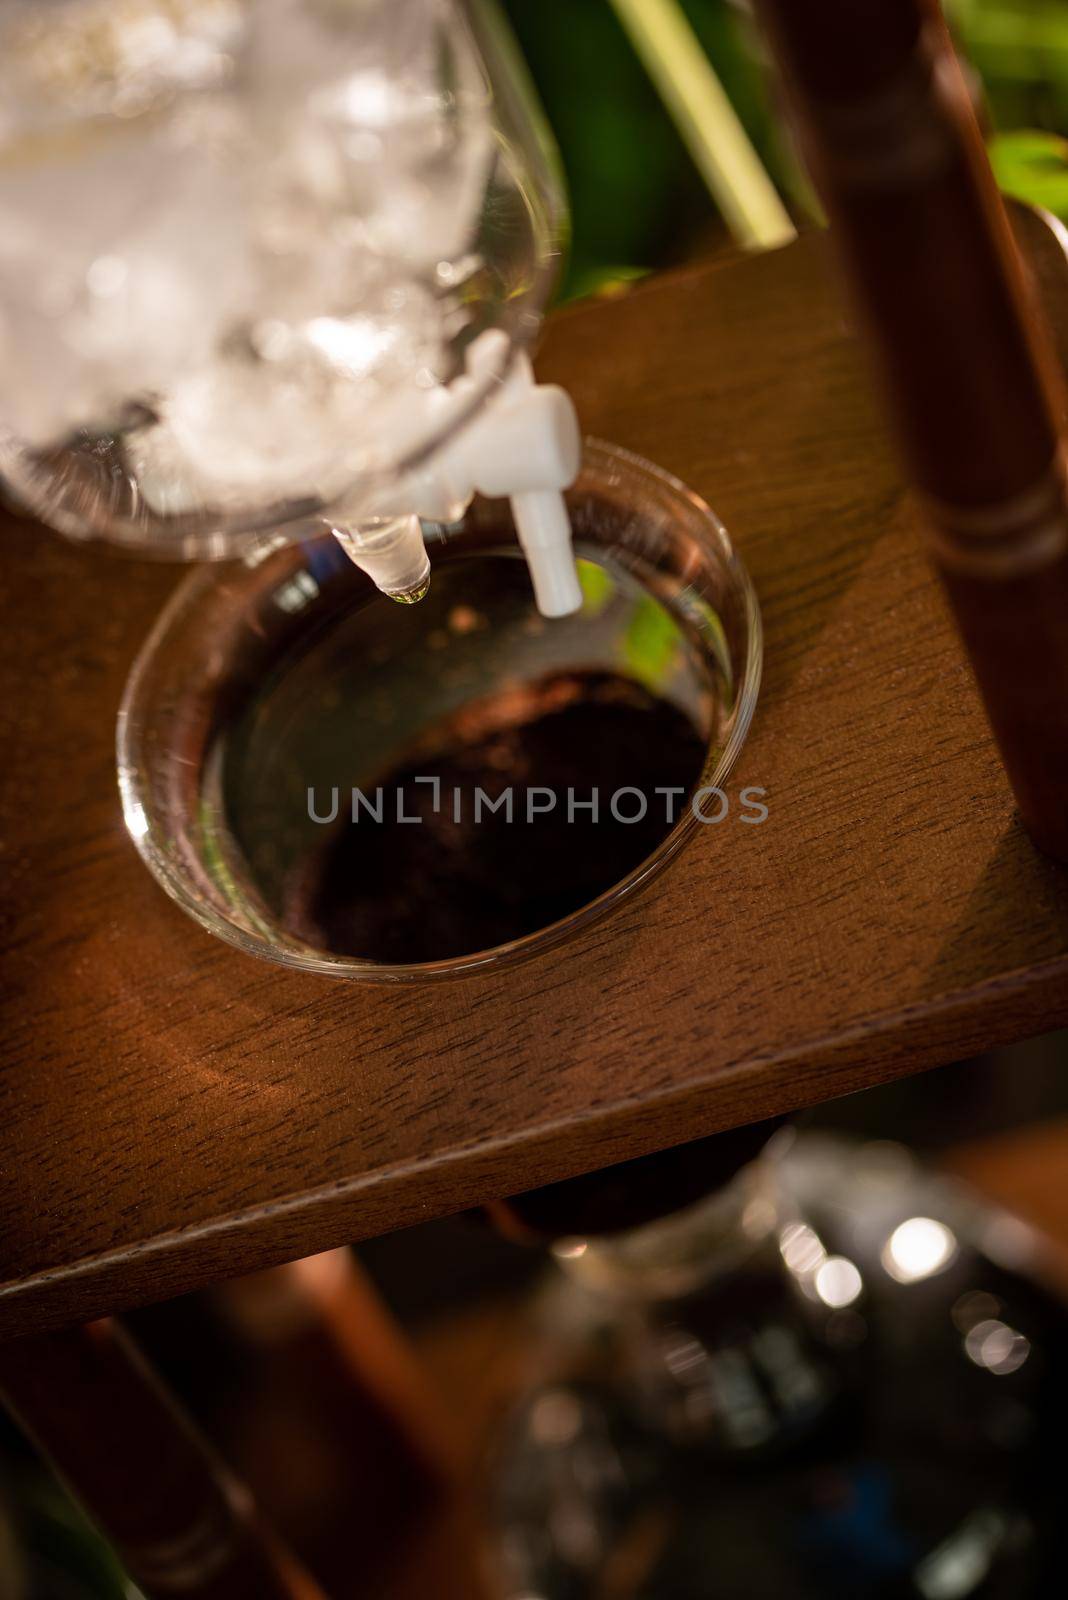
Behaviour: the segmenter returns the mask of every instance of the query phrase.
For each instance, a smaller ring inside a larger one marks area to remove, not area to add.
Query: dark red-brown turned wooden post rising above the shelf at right
[[[1020,811],[1068,861],[1068,466],[934,0],[758,0]]]

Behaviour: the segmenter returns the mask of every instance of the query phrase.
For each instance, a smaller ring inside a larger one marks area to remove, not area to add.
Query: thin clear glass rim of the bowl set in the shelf
[[[739,693],[731,722],[731,733],[723,749],[718,752],[711,768],[702,773],[700,784],[694,792],[699,794],[703,789],[718,789],[737,763],[742,746],[748,736],[759,696],[764,637],[756,590],[745,565],[734,550],[734,544],[731,542],[724,525],[700,494],[691,490],[673,474],[667,472],[664,467],[646,461],[635,451],[625,450],[620,445],[611,445],[600,438],[584,438],[584,467],[590,464],[609,462],[622,462],[632,472],[638,472],[644,478],[652,477],[659,488],[662,491],[665,490],[670,498],[686,501],[691,514],[695,512],[702,522],[700,536],[708,542],[710,549],[713,549],[721,566],[729,571],[735,594],[742,600],[745,613],[745,659],[739,672]],[[544,950],[553,949],[587,928],[590,923],[609,915],[624,901],[636,896],[678,856],[699,827],[710,826],[702,819],[700,810],[694,806],[691,794],[681,816],[673,824],[671,830],[665,834],[656,850],[651,851],[644,861],[640,861],[635,867],[632,867],[630,872],[627,872],[611,888],[603,890],[593,899],[579,906],[566,917],[547,923],[544,928],[536,928],[532,933],[521,934],[520,938],[510,939],[504,944],[494,944],[486,950],[472,950],[467,955],[440,957],[433,962],[373,962],[365,957],[336,955],[328,950],[313,950],[312,947],[294,946],[293,949],[286,949],[273,942],[270,938],[232,922],[217,907],[205,904],[193,891],[189,878],[177,870],[166,853],[158,848],[155,838],[152,837],[152,829],[147,826],[147,810],[142,798],[142,789],[137,781],[137,762],[133,749],[133,728],[139,722],[139,701],[157,648],[168,635],[171,626],[184,614],[190,597],[205,582],[217,581],[222,571],[224,568],[219,565],[208,563],[190,573],[189,578],[177,586],[158,614],[149,637],[137,651],[130,677],[126,678],[115,725],[115,757],[118,766],[118,792],[126,832],[130,834],[137,854],[149,867],[152,877],[195,922],[243,954],[286,966],[291,971],[313,973],[323,978],[341,978],[352,982],[377,982],[387,986],[435,982],[443,979],[448,981],[486,970],[512,966],[540,955]]]

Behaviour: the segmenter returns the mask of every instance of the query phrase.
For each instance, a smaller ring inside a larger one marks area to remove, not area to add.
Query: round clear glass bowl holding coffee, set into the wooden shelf
[[[737,760],[759,611],[713,512],[638,456],[588,440],[568,506],[585,600],[552,622],[504,501],[427,528],[419,606],[328,536],[182,582],[118,718],[126,826],[168,894],[249,954],[398,982],[532,955],[648,883]],[[609,816],[609,789],[630,814],[668,778],[686,798],[662,816]],[[476,782],[518,786],[513,821],[468,826]],[[553,782],[537,832],[524,805]]]

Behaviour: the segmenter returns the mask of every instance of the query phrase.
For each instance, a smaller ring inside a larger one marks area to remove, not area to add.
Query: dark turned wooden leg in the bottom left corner
[[[149,1600],[323,1600],[117,1323],[5,1344],[0,1395]]]

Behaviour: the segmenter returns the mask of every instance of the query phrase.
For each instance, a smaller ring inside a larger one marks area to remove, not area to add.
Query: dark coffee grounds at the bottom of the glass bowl
[[[640,866],[681,814],[705,754],[684,712],[612,672],[502,690],[438,726],[374,790],[363,787],[382,821],[358,806],[353,822],[341,795],[321,846],[289,877],[285,920],[320,947],[390,963],[518,939]],[[438,789],[417,778],[436,778]],[[592,787],[596,818],[582,803]],[[657,794],[665,789],[683,794]],[[486,797],[478,819],[476,790]]]

